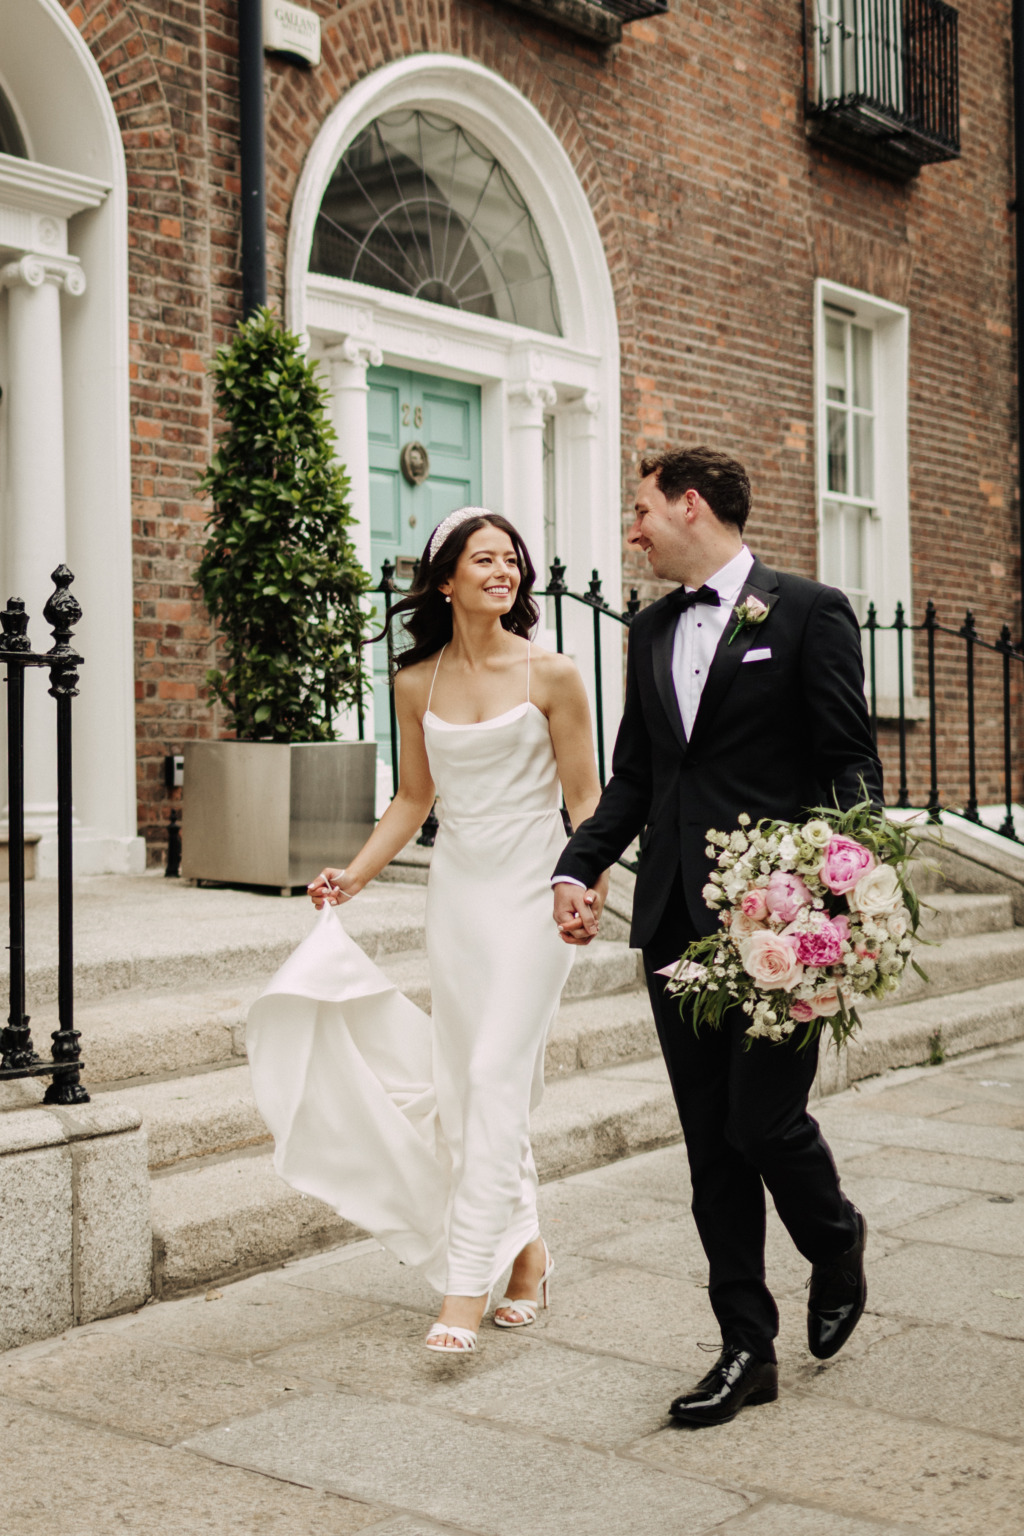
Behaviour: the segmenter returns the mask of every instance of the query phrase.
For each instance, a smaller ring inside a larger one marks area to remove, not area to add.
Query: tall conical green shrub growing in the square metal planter
[[[272,310],[244,321],[210,367],[227,422],[200,490],[212,498],[197,568],[224,637],[209,671],[239,740],[330,742],[365,687],[348,479],[327,392]]]

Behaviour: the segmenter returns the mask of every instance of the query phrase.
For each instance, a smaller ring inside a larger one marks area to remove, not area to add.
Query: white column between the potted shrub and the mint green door
[[[381,573],[373,570],[370,551],[370,421],[367,415],[370,387],[367,369],[379,369],[382,355],[376,343],[347,336],[329,347],[324,358],[330,378],[332,422],[338,433],[338,459],[348,475],[348,499],[352,515],[356,519],[352,528],[352,542],[359,564],[370,574],[370,584],[376,587]],[[379,599],[376,604],[373,599],[367,601],[367,611],[373,607],[379,607]],[[364,697],[362,722],[365,739],[372,740],[375,727],[370,690]],[[348,710],[338,720],[338,731],[344,740],[356,740],[359,725],[355,710]]]

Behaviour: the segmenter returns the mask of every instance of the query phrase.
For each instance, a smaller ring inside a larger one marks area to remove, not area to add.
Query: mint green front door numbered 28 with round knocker
[[[431,528],[456,507],[479,505],[481,387],[405,369],[368,369],[367,384],[372,574],[376,585],[384,561],[391,561],[407,585],[411,562],[422,554]],[[421,484],[411,484],[402,473],[402,450],[408,444],[424,447],[430,459]],[[381,756],[390,762],[382,642],[373,648],[373,714]]]

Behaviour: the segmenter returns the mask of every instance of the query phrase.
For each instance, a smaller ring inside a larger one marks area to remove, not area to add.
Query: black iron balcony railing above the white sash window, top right
[[[895,175],[960,155],[958,14],[944,0],[804,0],[808,132]]]

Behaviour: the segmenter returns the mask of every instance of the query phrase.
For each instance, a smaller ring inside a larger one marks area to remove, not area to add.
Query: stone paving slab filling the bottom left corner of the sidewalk
[[[352,1536],[385,1511],[0,1399],[11,1536]]]

